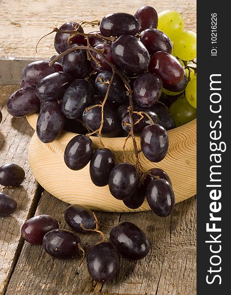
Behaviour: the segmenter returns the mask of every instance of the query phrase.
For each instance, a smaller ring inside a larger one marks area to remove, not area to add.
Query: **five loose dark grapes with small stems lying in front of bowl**
[[[98,232],[102,240],[93,244],[87,254],[87,268],[92,279],[101,283],[111,281],[120,267],[120,256],[138,260],[144,258],[150,243],[140,228],[131,222],[120,222],[110,231],[110,241],[99,231],[99,221],[94,212],[81,205],[70,205],[65,220],[76,233]],[[50,215],[37,215],[28,219],[21,229],[22,237],[31,244],[42,244],[51,256],[70,259],[85,256],[80,237],[70,230],[60,229],[58,221]]]

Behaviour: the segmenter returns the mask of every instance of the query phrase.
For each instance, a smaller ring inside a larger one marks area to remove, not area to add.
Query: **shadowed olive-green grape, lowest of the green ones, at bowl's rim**
[[[173,116],[176,127],[187,124],[197,118],[197,109],[192,107],[185,97],[178,98],[173,102],[170,106],[170,112]]]

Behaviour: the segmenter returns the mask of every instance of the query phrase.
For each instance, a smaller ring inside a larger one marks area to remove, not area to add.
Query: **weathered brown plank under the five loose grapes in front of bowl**
[[[61,228],[67,204],[44,192],[35,214],[50,214]],[[167,218],[152,211],[135,213],[96,212],[106,237],[119,221],[137,224],[151,241],[151,250],[140,261],[121,259],[120,271],[107,284],[91,280],[86,259],[59,260],[39,245],[25,242],[6,295],[195,295],[196,294],[196,199],[176,205]],[[106,226],[106,227],[105,227]],[[110,228],[108,228],[110,227]],[[79,234],[83,247],[99,241],[98,234]]]

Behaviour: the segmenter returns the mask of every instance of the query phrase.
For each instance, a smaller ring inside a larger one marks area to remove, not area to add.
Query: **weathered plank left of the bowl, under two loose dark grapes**
[[[36,198],[40,194],[27,160],[27,147],[33,129],[25,119],[12,118],[5,110],[4,103],[18,86],[0,87],[0,166],[13,162],[22,166],[26,179],[19,189],[5,190],[18,203],[17,211],[9,217],[0,218],[0,294],[3,294],[7,281],[17,262],[22,248],[20,228],[34,213]]]

